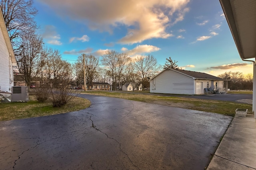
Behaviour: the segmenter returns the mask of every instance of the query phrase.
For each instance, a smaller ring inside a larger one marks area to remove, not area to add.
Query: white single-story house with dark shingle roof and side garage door
[[[206,93],[204,88],[224,91],[224,81],[203,72],[166,68],[150,80],[150,93],[194,95]],[[227,90],[227,84],[225,87]]]

